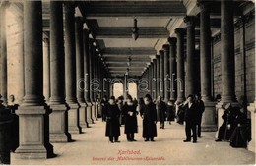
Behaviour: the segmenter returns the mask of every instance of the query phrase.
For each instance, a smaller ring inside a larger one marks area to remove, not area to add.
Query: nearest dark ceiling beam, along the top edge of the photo
[[[87,17],[170,17],[185,16],[186,8],[179,0],[172,1],[90,1],[79,2],[81,13]]]

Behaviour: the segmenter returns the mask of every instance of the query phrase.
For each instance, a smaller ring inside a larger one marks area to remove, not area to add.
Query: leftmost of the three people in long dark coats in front
[[[120,111],[115,103],[115,97],[112,96],[106,106],[106,129],[105,136],[109,137],[110,142],[120,142],[120,124],[119,124]],[[114,141],[113,141],[114,139]]]

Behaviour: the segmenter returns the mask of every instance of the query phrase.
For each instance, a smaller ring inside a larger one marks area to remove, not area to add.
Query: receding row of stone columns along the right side
[[[152,65],[148,67],[142,77],[153,75],[157,81],[156,93],[152,93],[154,98],[160,95],[165,101],[185,100],[189,94],[201,93],[205,102],[205,113],[202,120],[204,131],[215,131],[215,106],[211,96],[211,25],[210,7],[207,2],[198,3],[200,12],[200,73],[196,72],[196,52],[195,52],[195,16],[186,16],[184,22],[186,29],[176,28],[176,38],[169,37],[168,43],[162,46],[159,55]],[[234,90],[234,28],[232,1],[222,1],[221,3],[221,42],[222,42],[222,101],[217,105],[221,109],[227,103],[235,102]],[[186,36],[186,43],[185,43]],[[186,44],[186,50],[184,49]],[[186,57],[186,58],[184,58]],[[227,65],[228,64],[228,65]],[[153,70],[151,70],[153,69]],[[200,84],[197,84],[196,77],[200,75]],[[171,82],[167,82],[167,81]],[[160,81],[160,82],[158,82]],[[154,83],[150,82],[149,83]],[[150,85],[151,86],[151,85]],[[201,87],[201,89],[198,89]],[[223,115],[219,112],[219,115]],[[222,122],[219,122],[220,124]]]

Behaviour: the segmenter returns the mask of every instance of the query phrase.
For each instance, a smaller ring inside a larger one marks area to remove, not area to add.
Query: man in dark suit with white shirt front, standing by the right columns
[[[186,131],[186,139],[184,142],[191,141],[191,130],[193,131],[193,143],[197,142],[197,134],[196,134],[196,124],[197,124],[197,107],[194,103],[193,95],[189,95],[187,97],[187,102],[184,105],[185,109],[185,131]]]

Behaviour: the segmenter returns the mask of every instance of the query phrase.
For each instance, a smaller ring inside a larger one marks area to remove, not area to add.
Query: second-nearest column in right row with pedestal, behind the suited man
[[[200,12],[200,69],[201,95],[205,103],[202,117],[202,131],[216,131],[215,124],[216,103],[211,98],[211,28],[210,9],[205,2],[198,3]]]

